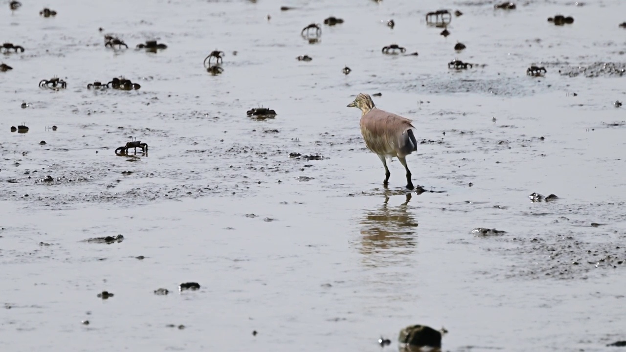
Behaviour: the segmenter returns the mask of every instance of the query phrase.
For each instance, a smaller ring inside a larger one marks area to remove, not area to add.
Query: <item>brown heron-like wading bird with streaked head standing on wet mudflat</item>
[[[418,150],[411,120],[376,108],[372,98],[363,93],[357,95],[347,107],[361,109],[361,134],[367,148],[381,158],[385,167],[383,184],[386,186],[391,176],[387,158],[397,157],[406,169],[406,188],[414,189],[411,171],[406,166],[406,156]]]

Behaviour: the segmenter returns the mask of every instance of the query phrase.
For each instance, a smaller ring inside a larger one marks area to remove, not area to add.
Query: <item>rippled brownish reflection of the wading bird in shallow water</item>
[[[361,220],[361,254],[372,256],[375,263],[380,259],[397,254],[413,252],[415,229],[418,226],[413,214],[408,212],[411,193],[406,194],[406,202],[398,207],[389,207],[389,195],[385,195],[382,207],[367,212]],[[399,258],[397,258],[399,259]]]

